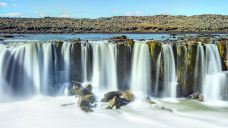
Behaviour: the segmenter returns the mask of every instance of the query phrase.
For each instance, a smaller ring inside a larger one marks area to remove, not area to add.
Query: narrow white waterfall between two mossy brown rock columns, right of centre
[[[176,67],[172,46],[169,44],[162,45],[162,53],[164,59],[164,97],[177,97],[177,80]]]

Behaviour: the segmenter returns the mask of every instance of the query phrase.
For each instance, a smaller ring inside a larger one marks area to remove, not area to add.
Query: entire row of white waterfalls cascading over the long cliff
[[[152,91],[150,89],[154,87],[155,96],[176,98],[176,70],[178,68],[176,69],[175,60],[178,58],[174,57],[176,51],[173,51],[172,44],[161,45],[162,51],[156,52],[158,55],[155,60],[151,58],[151,50],[145,41],[136,41],[130,46],[133,49],[131,49],[132,52],[127,52],[128,59],[121,55],[125,54],[124,47],[129,47],[129,45],[110,43],[107,40],[82,43],[0,44],[0,61],[2,62],[0,63],[0,95],[67,95],[71,80],[78,80],[91,83],[95,91],[114,91],[119,89],[118,86],[126,86],[121,89],[130,88],[136,96],[145,96],[150,94]],[[191,48],[193,51],[197,50],[196,58],[185,60],[190,62],[186,62],[185,69],[188,68],[186,66],[190,66],[189,69],[195,69],[188,71],[192,74],[191,76],[189,73],[191,77],[181,79],[180,90],[185,87],[182,84],[187,80],[192,80],[195,82],[192,83],[194,87],[186,84],[187,88],[183,90],[194,88],[194,91],[203,93],[208,101],[226,100],[228,98],[227,73],[222,72],[217,46],[198,44],[197,49],[195,45]],[[185,53],[178,53],[181,59],[187,58],[181,57],[182,55],[186,56],[187,52],[191,52],[187,50],[187,47],[180,50],[182,51]],[[125,64],[125,67],[120,68],[122,64]],[[178,64],[181,65],[182,60]],[[153,70],[151,67],[157,69]],[[117,73],[126,70],[129,72],[131,70],[131,74],[121,74],[124,80],[120,80]],[[180,73],[186,73],[184,70],[180,71]],[[123,85],[122,81],[124,81]]]

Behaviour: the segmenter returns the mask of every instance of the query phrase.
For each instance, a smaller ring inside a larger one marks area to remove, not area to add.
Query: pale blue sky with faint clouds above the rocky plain
[[[228,0],[0,0],[0,17],[228,15]]]

